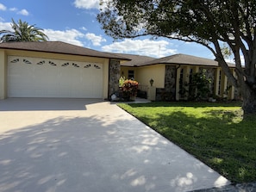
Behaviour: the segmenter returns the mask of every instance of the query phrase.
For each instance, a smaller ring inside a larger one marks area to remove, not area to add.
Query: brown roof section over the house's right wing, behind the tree
[[[218,62],[214,59],[205,59],[187,54],[174,54],[160,59],[145,56],[124,56],[132,60],[122,63],[122,66],[145,66],[157,64],[218,66]],[[234,64],[228,63],[228,66],[234,67]]]

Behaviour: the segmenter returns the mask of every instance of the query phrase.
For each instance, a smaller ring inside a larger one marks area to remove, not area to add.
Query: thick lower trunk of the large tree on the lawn
[[[256,115],[256,85],[250,85],[245,82],[241,88],[243,97],[242,109],[244,117]]]

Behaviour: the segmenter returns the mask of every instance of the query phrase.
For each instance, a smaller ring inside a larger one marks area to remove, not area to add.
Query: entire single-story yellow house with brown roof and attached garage
[[[228,65],[234,72],[234,65]],[[188,97],[181,94],[183,84],[198,71],[206,71],[211,79],[212,95],[240,98],[239,91],[229,87],[228,78],[213,59],[184,54],[155,59],[103,53],[60,41],[0,43],[0,99],[107,99],[119,89],[122,76],[137,80],[140,91],[147,92],[151,100],[181,100]]]

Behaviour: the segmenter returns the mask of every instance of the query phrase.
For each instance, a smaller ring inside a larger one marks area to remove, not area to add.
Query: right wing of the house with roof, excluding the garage
[[[181,100],[187,99],[187,94],[181,94],[184,83],[190,82],[192,73],[205,71],[211,79],[209,90],[212,96],[240,99],[238,90],[228,83],[228,77],[222,68],[213,59],[203,59],[185,54],[175,54],[161,59],[150,57],[116,54],[131,61],[121,63],[121,76],[133,77],[140,84],[141,90],[152,90],[150,79],[156,91],[156,100]],[[234,65],[228,64],[234,72]]]

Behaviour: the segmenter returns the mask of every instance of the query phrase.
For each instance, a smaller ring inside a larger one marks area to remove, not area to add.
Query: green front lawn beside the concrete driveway
[[[119,106],[233,183],[256,181],[256,118],[241,103],[151,102]]]

